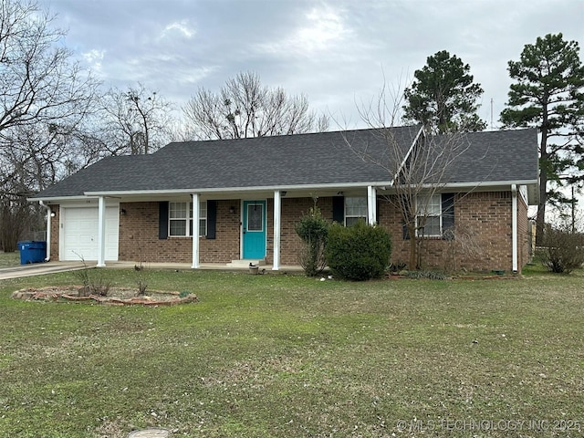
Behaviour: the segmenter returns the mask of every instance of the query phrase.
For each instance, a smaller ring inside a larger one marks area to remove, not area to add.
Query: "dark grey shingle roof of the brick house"
[[[407,150],[419,127],[392,128]],[[537,179],[535,130],[468,134],[471,146],[454,182]],[[350,143],[349,148],[347,143]],[[360,152],[381,157],[378,130],[349,130],[227,141],[174,142],[151,155],[110,157],[38,193],[36,199],[86,192],[177,191],[380,183],[391,176]]]

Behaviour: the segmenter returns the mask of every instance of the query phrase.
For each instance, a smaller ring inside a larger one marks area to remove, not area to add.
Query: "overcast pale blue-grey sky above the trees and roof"
[[[341,128],[362,128],[356,106],[384,81],[403,89],[426,58],[448,50],[485,90],[495,128],[511,83],[507,62],[537,36],[584,46],[584,0],[40,0],[66,44],[108,87],[140,81],[180,107],[251,70],[304,93]],[[584,54],[580,53],[580,58]],[[331,128],[336,128],[334,122]]]

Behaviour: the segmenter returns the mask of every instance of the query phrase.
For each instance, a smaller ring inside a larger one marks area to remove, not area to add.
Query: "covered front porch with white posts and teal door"
[[[375,191],[369,192],[369,205],[365,201],[362,215],[367,217],[372,211],[369,220],[373,223],[377,205]],[[365,200],[367,194],[367,188],[362,187],[347,193],[327,193],[318,197],[318,207],[329,221],[343,223],[343,195]],[[300,269],[297,260],[302,243],[295,225],[314,206],[313,198],[308,193],[292,191],[240,196],[217,199],[217,194],[183,195],[169,202],[122,200],[119,260],[180,263],[203,269],[247,269],[249,263],[274,271]],[[177,219],[178,214],[173,212],[178,211],[179,204],[183,215]],[[179,227],[175,225],[179,223],[181,231],[177,233]],[[193,235],[199,238],[193,239]],[[249,250],[252,245],[254,251]],[[104,261],[107,266],[112,263],[115,262]]]

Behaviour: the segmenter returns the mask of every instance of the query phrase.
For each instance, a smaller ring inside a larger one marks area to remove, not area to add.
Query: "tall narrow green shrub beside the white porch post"
[[[296,224],[296,233],[304,245],[298,254],[298,263],[304,268],[307,276],[318,276],[327,262],[325,260],[325,244],[328,235],[328,222],[320,214],[315,205],[308,214],[300,218]]]

